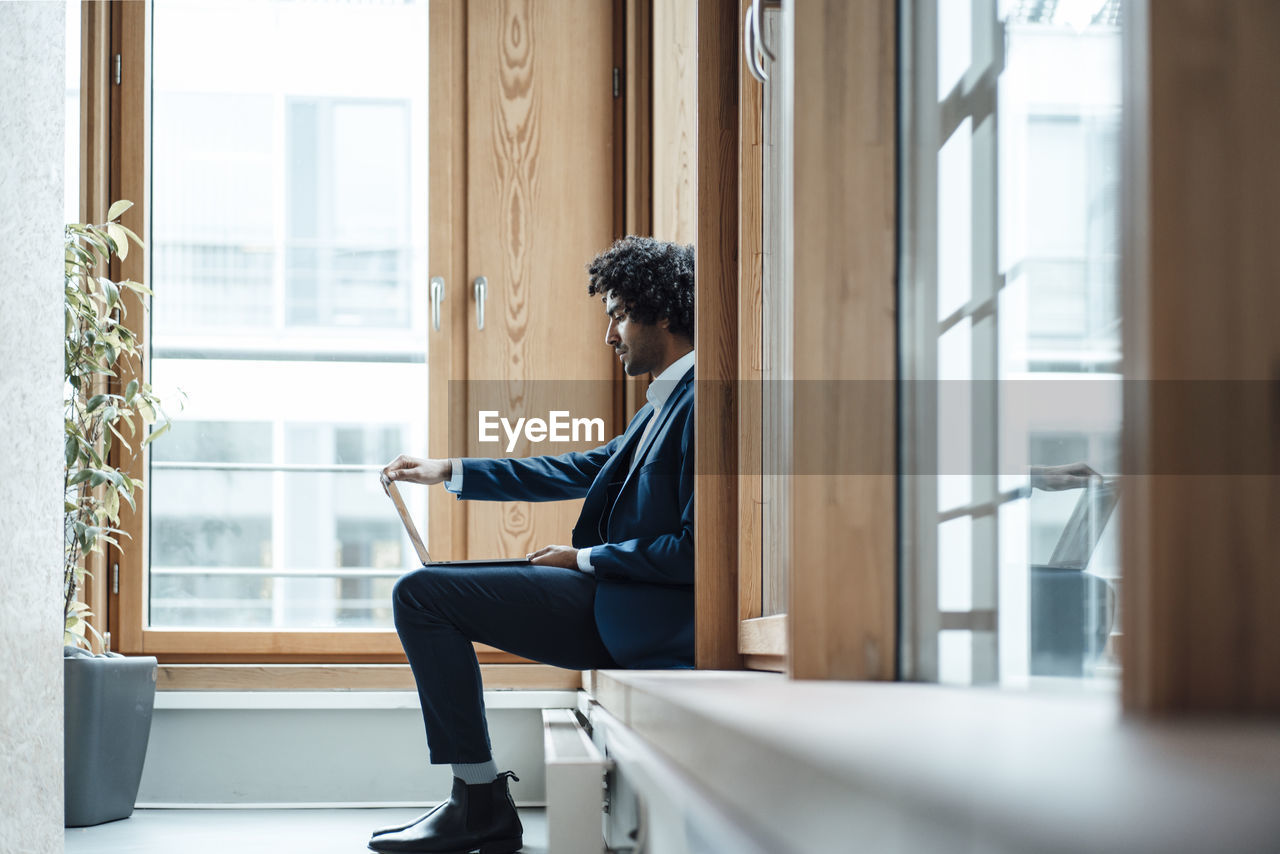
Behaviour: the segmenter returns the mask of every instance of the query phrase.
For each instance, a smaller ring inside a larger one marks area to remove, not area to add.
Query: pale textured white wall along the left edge
[[[0,851],[63,850],[65,6],[0,3]]]

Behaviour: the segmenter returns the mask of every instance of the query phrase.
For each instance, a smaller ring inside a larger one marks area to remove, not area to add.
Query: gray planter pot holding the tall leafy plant
[[[67,827],[128,818],[156,699],[156,659],[63,658]]]

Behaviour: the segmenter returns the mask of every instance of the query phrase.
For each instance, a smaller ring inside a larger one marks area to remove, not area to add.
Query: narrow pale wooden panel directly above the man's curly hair
[[[696,237],[698,6],[653,0],[653,236],[678,243]]]

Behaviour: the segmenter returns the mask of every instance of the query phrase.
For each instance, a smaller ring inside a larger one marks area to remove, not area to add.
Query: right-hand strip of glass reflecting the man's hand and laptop
[[[1021,551],[1027,572],[1027,670],[1006,662],[1006,681],[1115,670],[1119,567],[1114,551],[1101,572],[1098,558],[1119,528],[1117,23],[1116,4],[1101,1],[1006,19],[1000,255],[1018,296],[1000,319],[1016,353],[1000,379],[1002,406],[1021,416],[1002,417],[1001,442],[1032,472],[1025,510],[1001,525],[1001,553]],[[1034,474],[1062,469],[1098,476]]]

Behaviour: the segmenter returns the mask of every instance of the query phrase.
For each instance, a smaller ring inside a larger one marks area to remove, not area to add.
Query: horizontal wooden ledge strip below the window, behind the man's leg
[[[490,691],[576,691],[582,675],[545,665],[481,665]],[[160,691],[412,691],[408,665],[161,665]]]

